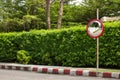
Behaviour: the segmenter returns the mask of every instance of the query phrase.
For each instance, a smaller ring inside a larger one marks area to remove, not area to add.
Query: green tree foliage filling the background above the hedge
[[[0,32],[47,29],[46,0],[0,0]],[[56,28],[60,1],[50,4],[51,28]],[[80,5],[65,0],[62,26],[84,24],[96,18],[96,9],[103,16],[120,16],[119,0],[82,0]]]

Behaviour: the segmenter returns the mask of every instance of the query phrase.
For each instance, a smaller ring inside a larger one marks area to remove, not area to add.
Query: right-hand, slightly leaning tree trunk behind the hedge
[[[57,28],[58,29],[61,28],[63,7],[64,7],[64,0],[60,0],[60,9],[59,9],[59,12],[58,12],[58,22],[57,22]]]

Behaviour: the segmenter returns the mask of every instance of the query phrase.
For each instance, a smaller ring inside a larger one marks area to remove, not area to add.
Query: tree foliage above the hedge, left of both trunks
[[[43,0],[0,0],[0,32],[28,31],[45,27]],[[44,17],[44,19],[43,19]]]

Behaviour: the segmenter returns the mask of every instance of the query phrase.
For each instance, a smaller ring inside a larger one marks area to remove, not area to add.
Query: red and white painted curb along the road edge
[[[120,79],[120,73],[117,72],[94,72],[89,70],[70,69],[70,68],[55,68],[44,66],[30,66],[30,65],[15,65],[15,64],[0,64],[0,69],[7,70],[22,70],[32,71],[38,73],[51,73],[51,74],[65,74],[72,76],[92,76],[104,78],[117,78]]]

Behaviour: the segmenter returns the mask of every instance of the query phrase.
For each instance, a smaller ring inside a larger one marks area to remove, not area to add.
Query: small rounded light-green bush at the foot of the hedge
[[[31,59],[28,52],[25,50],[19,50],[17,52],[17,61],[21,64],[28,64]]]

